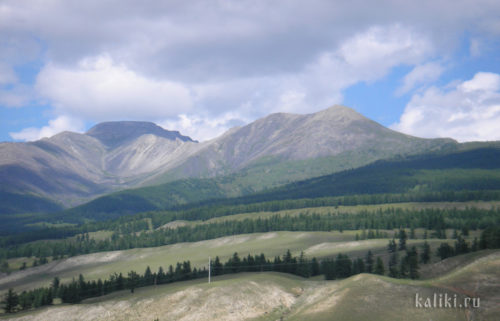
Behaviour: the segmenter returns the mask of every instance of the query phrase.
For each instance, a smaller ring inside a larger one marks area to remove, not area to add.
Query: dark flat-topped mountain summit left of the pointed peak
[[[184,142],[194,142],[190,137],[183,136],[178,131],[169,131],[154,123],[144,121],[103,122],[95,125],[86,133],[86,135],[100,140],[108,147],[115,147],[123,142],[147,134],[171,140],[180,139]]]

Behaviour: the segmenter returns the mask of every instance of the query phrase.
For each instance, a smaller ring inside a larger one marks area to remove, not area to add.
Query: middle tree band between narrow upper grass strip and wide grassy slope
[[[156,247],[179,242],[196,242],[223,236],[266,233],[272,231],[344,231],[373,230],[378,233],[374,237],[386,237],[378,230],[397,228],[434,229],[434,236],[445,237],[445,229],[485,229],[500,225],[500,209],[421,209],[409,210],[401,208],[360,211],[357,213],[328,212],[314,213],[314,209],[305,210],[299,215],[275,214],[265,218],[245,218],[181,226],[175,229],[142,230],[121,227],[115,230],[110,238],[95,240],[88,233],[71,240],[37,241],[27,244],[0,248],[0,261],[13,257],[32,257],[40,260],[46,257],[58,259],[64,256],[75,256],[101,251],[126,250],[132,248]],[[139,224],[138,224],[139,225]],[[140,226],[146,228],[148,222]],[[362,237],[363,238],[363,237]],[[373,238],[373,237],[369,237]]]

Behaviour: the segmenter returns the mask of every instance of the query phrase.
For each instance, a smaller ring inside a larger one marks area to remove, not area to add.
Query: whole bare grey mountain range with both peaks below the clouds
[[[0,143],[0,194],[68,207],[127,188],[233,175],[229,195],[239,196],[458,145],[390,130],[344,106],[271,114],[201,143],[149,122],[105,122],[84,134]]]

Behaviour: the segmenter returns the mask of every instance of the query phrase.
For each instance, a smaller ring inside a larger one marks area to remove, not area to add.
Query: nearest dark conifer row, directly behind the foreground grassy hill
[[[435,254],[444,260],[481,249],[500,248],[499,236],[499,226],[486,228],[481,233],[480,240],[475,239],[472,244],[465,241],[462,235],[457,235],[454,246],[443,242]],[[303,252],[296,257],[288,250],[282,257],[276,256],[272,260],[266,258],[263,253],[240,257],[235,252],[226,262],[221,262],[217,256],[211,261],[209,268],[203,267],[202,269],[192,268],[189,261],[183,261],[175,266],[170,265],[168,268],[159,267],[158,271],[154,272],[148,266],[143,274],[133,270],[126,275],[114,273],[105,280],[86,281],[85,277],[80,274],[77,279],[62,283],[58,277],[55,277],[50,287],[21,293],[9,289],[4,297],[5,311],[13,313],[18,310],[52,305],[54,299],[60,299],[63,303],[78,303],[88,298],[126,289],[133,293],[140,287],[207,278],[209,271],[213,277],[240,272],[281,272],[304,278],[323,275],[326,280],[347,278],[359,273],[387,274],[394,278],[418,279],[420,277],[419,265],[427,264],[432,253],[427,242],[417,249],[415,246],[407,247],[407,239],[406,231],[400,229],[395,238],[389,241],[385,255],[389,256],[387,267],[382,257],[375,257],[371,251],[368,251],[364,257],[351,258],[339,253],[335,257],[318,260],[315,257],[311,259],[305,257]]]

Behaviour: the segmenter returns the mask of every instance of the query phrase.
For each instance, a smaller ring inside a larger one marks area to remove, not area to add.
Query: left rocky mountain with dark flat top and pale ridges
[[[102,123],[29,143],[0,144],[1,189],[67,205],[133,186],[168,164],[191,138],[146,122]]]

